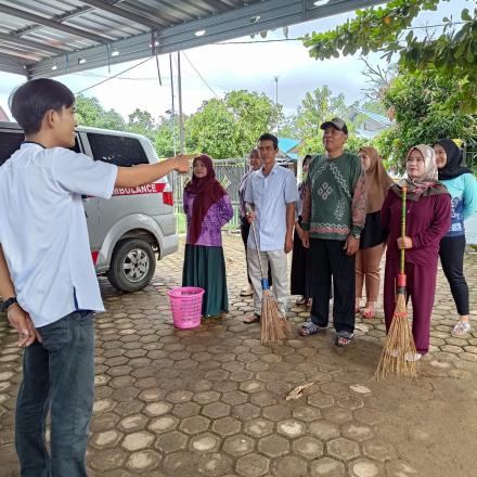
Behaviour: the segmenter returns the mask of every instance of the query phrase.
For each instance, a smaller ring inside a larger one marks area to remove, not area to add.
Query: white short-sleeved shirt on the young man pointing
[[[0,167],[0,244],[20,306],[36,327],[104,311],[81,195],[109,198],[117,167],[24,143]]]

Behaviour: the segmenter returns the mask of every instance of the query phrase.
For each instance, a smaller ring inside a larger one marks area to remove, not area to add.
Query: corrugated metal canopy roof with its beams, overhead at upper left
[[[378,3],[384,1],[0,0],[0,70],[54,77]]]

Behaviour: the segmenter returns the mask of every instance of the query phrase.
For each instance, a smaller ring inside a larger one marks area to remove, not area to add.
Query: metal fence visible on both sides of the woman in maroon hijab
[[[233,218],[225,225],[225,229],[238,229],[240,227],[240,202],[238,202],[238,185],[242,176],[247,170],[247,158],[237,159],[215,159],[214,169],[216,177],[223,185],[229,194],[233,206]],[[180,176],[173,172],[169,176],[169,182],[173,190],[173,211],[178,219],[178,232],[185,232],[185,215],[182,208],[182,194],[184,185],[188,182],[188,176]]]

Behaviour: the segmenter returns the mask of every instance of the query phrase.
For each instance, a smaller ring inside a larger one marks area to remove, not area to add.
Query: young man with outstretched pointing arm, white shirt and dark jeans
[[[81,195],[109,198],[115,186],[189,171],[185,156],[121,168],[75,145],[75,98],[51,79],[14,91],[25,132],[0,168],[0,295],[25,347],[15,416],[22,476],[85,477],[94,390],[93,312],[104,311]],[[51,455],[44,426],[51,410]]]

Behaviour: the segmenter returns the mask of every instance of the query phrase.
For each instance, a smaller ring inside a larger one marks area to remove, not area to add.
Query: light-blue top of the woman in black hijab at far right
[[[451,228],[446,236],[465,234],[464,220],[477,210],[477,181],[472,173],[441,180],[452,197]]]

